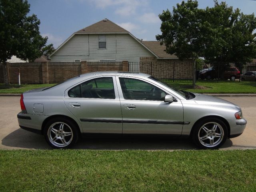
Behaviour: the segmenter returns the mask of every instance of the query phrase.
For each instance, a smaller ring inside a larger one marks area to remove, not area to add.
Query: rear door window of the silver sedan
[[[112,77],[96,78],[83,82],[68,91],[74,98],[114,99],[115,91]]]

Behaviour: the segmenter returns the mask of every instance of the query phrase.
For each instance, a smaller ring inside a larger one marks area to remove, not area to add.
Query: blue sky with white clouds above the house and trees
[[[40,32],[47,44],[57,48],[74,32],[104,18],[122,26],[137,38],[155,40],[160,34],[158,14],[182,0],[28,0],[30,14],[40,19]],[[220,0],[219,0],[220,2]],[[256,0],[226,0],[245,14],[256,10]],[[213,0],[198,0],[199,8],[214,6]]]

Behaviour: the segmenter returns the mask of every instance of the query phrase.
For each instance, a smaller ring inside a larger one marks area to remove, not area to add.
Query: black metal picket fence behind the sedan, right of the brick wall
[[[130,72],[172,82],[192,81],[193,62],[129,62]],[[196,62],[197,81],[255,81],[256,62]]]

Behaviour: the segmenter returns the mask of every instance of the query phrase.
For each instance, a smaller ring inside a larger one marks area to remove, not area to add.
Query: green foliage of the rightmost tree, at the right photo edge
[[[204,58],[210,62],[250,62],[256,58],[256,18],[240,13],[226,2],[207,7],[204,24]]]

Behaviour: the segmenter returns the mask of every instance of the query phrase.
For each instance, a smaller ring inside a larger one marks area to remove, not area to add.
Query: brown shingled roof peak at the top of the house
[[[76,33],[128,33],[128,31],[106,18]]]

